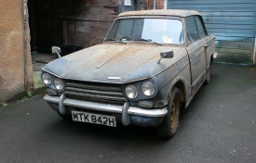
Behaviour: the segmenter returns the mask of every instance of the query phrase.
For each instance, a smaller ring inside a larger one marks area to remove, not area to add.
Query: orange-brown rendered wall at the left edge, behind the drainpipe
[[[0,104],[24,93],[24,32],[23,3],[17,0],[0,1]],[[33,84],[32,63],[27,34],[28,87]]]

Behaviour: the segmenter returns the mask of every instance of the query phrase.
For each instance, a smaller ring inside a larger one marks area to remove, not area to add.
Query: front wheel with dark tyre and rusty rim
[[[156,128],[160,137],[171,138],[176,133],[179,126],[180,107],[180,92],[174,87],[168,101],[168,114]]]

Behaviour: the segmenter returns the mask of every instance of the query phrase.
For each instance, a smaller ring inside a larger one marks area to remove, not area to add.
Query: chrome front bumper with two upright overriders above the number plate
[[[50,103],[59,104],[61,114],[66,113],[65,106],[87,108],[102,112],[120,113],[122,114],[122,123],[127,126],[129,124],[129,115],[141,116],[147,118],[162,118],[168,113],[167,107],[157,109],[144,109],[141,107],[130,107],[128,102],[124,106],[114,104],[104,104],[99,102],[90,102],[77,99],[66,98],[65,94],[60,96],[45,95],[44,99]]]

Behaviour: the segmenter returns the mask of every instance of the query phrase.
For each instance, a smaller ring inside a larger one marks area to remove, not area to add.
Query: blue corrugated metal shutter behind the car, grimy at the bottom
[[[256,0],[168,0],[168,9],[195,9],[216,37],[218,62],[252,65]]]

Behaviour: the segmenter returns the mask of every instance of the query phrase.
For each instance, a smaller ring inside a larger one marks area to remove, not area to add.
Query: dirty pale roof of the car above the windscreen
[[[192,15],[199,15],[199,12],[195,10],[184,9],[155,9],[155,10],[140,10],[140,11],[128,11],[119,14],[117,17],[127,16],[173,16],[173,17],[188,17]]]

